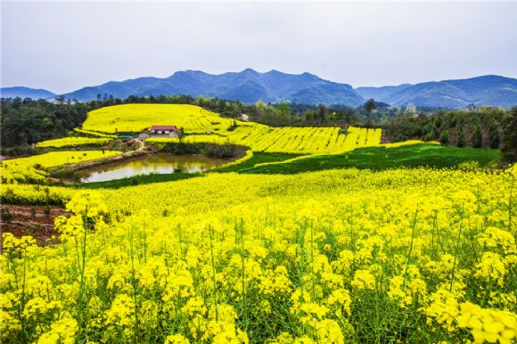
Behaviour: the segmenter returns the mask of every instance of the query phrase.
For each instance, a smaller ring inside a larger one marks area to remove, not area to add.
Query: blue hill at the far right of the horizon
[[[496,75],[415,85],[358,87],[356,91],[365,98],[398,106],[410,102],[420,107],[447,109],[464,109],[470,104],[505,108],[517,105],[517,79]]]

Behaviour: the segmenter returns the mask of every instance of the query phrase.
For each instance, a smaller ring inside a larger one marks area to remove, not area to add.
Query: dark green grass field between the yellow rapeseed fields
[[[358,148],[344,154],[308,156],[305,159],[254,167],[250,167],[253,161],[248,160],[242,165],[233,166],[232,170],[242,173],[293,174],[333,168],[373,170],[403,167],[455,168],[466,161],[477,161],[480,166],[486,166],[498,157],[499,151],[497,150],[457,148],[422,143],[397,148]],[[263,160],[260,162],[274,161],[267,161],[267,157],[260,157],[260,159]],[[255,162],[254,164],[258,163]]]

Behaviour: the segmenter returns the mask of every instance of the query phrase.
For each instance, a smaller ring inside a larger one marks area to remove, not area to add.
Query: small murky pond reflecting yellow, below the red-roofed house
[[[81,171],[80,174],[83,183],[106,182],[130,176],[203,172],[230,161],[202,155],[158,154],[89,168]]]

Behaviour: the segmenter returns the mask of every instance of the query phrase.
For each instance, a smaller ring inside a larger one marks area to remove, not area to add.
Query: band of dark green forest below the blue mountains
[[[80,127],[88,111],[122,103],[187,103],[201,106],[224,117],[238,119],[247,114],[252,121],[274,127],[349,125],[382,127],[384,142],[410,139],[436,140],[457,147],[501,148],[506,161],[517,160],[517,108],[470,108],[444,111],[393,107],[368,100],[351,108],[343,105],[275,104],[226,101],[188,95],[159,97],[129,96],[127,99],[97,97],[92,102],[56,102],[30,99],[2,99],[2,150],[4,154],[22,154],[39,141],[69,135]],[[428,111],[426,113],[426,111]]]

